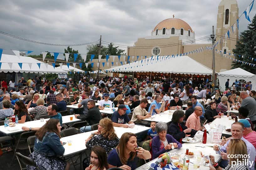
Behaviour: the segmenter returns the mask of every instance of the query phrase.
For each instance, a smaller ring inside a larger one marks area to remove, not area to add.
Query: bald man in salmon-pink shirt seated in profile
[[[203,109],[200,106],[195,107],[194,113],[192,113],[186,121],[186,127],[195,129],[195,130],[203,130],[203,127],[200,123],[200,116],[203,114]]]

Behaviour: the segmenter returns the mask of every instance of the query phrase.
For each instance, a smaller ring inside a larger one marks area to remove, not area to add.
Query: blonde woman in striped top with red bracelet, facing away
[[[230,142],[227,145],[227,154],[228,155],[247,155],[247,147],[243,140],[241,139],[230,139]],[[222,170],[222,168],[215,162],[214,156],[210,155],[211,162],[214,167],[210,167],[210,170]],[[248,158],[238,157],[238,158],[229,158],[229,163],[225,170],[246,170],[249,169],[246,165],[241,165],[239,162],[247,162]],[[239,162],[238,162],[239,161]],[[236,165],[232,165],[231,163],[236,162]]]

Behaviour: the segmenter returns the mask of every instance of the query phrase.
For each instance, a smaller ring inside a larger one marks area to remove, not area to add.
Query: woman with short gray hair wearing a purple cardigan
[[[166,153],[174,148],[181,148],[182,144],[179,143],[172,135],[167,133],[167,124],[158,122],[156,124],[157,136],[152,139],[152,153],[153,159],[157,158],[162,153]]]

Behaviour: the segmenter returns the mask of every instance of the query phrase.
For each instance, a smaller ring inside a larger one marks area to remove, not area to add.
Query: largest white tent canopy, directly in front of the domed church
[[[171,58],[153,56],[130,64],[107,69],[108,72],[154,72],[192,75],[212,75],[212,69],[188,56]]]

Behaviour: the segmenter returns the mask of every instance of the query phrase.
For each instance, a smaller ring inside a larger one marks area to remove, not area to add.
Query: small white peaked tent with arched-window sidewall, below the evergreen
[[[242,68],[235,68],[232,70],[220,72],[218,73],[217,78],[219,78],[219,86],[221,89],[225,89],[225,83],[227,82],[227,79],[229,79],[229,87],[231,87],[237,79],[241,83],[251,81],[253,85],[252,89],[256,90],[256,75],[245,71]]]

